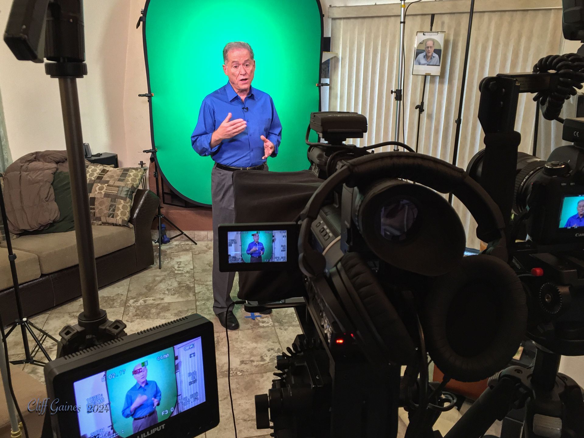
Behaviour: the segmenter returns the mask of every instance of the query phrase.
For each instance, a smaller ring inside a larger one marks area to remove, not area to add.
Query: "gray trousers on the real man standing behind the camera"
[[[267,164],[264,166],[267,171]],[[219,271],[219,235],[220,224],[235,222],[235,201],[233,194],[233,172],[224,171],[213,166],[211,171],[211,202],[213,203],[213,311],[215,314],[225,312],[233,303],[231,289],[235,272]],[[233,308],[231,308],[233,310]]]

